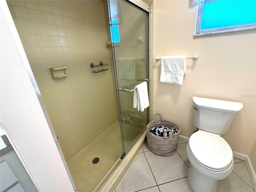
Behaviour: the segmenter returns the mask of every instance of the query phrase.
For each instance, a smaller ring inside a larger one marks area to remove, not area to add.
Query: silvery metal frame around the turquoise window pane
[[[227,26],[227,27],[201,30],[202,13],[203,13],[203,10],[204,10],[204,4],[205,4],[204,2],[205,1],[206,0],[199,0],[198,1],[198,10],[197,10],[197,15],[196,15],[196,24],[195,24],[194,36],[256,29],[256,23],[250,23],[250,24],[243,24],[243,25]],[[217,1],[217,0],[207,0],[207,1],[208,1],[208,3],[210,3],[210,2]]]

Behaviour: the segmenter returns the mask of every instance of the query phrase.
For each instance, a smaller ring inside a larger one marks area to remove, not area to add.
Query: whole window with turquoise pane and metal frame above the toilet
[[[194,36],[256,28],[256,0],[199,0]]]

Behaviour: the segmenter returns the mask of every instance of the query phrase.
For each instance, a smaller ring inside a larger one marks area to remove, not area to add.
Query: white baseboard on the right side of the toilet
[[[234,156],[234,158],[238,158],[238,159],[241,159],[241,160],[245,161],[245,164],[248,168],[248,172],[249,172],[249,175],[250,175],[250,178],[251,178],[251,181],[252,181],[252,186],[253,186],[254,190],[256,190],[256,174],[255,174],[254,169],[252,167],[252,163],[250,161],[249,156],[245,155],[245,154],[242,154],[242,153],[235,152],[235,151],[233,151],[233,156]]]

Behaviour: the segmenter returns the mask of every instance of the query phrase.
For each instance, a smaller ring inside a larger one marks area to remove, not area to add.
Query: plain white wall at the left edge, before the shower
[[[0,121],[42,192],[73,191],[26,71],[28,60],[0,1]]]

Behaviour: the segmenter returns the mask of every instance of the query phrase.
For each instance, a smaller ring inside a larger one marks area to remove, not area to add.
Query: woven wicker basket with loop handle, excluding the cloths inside
[[[156,120],[156,115],[160,116],[160,119]],[[178,133],[172,134],[168,137],[160,137],[150,133],[150,130],[154,127],[164,126],[167,128],[176,128]],[[154,154],[158,156],[170,156],[174,154],[178,146],[178,138],[180,134],[180,127],[168,120],[162,119],[162,116],[158,113],[154,115],[154,120],[147,126],[147,143],[148,148]]]

